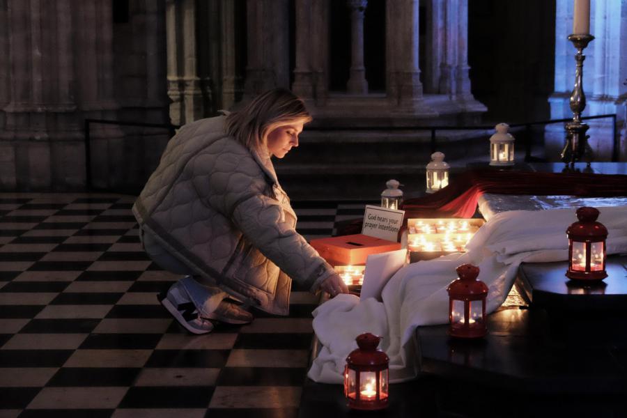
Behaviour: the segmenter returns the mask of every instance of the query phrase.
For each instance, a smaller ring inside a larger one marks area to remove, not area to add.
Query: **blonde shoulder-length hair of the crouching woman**
[[[294,121],[311,121],[304,102],[285,88],[274,88],[226,116],[226,133],[249,150],[255,150],[266,145],[272,130]]]

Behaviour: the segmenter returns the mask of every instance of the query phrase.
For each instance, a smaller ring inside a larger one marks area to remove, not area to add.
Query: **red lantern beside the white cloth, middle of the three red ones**
[[[449,292],[449,334],[459,338],[479,338],[488,332],[486,297],[488,286],[479,276],[479,268],[463,264],[457,268],[458,279],[451,281]]]

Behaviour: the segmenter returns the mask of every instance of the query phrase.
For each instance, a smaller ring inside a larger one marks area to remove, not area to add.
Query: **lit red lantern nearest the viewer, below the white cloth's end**
[[[346,357],[344,396],[356,410],[380,410],[388,403],[389,357],[377,350],[380,336],[371,333],[357,336],[357,350]]]

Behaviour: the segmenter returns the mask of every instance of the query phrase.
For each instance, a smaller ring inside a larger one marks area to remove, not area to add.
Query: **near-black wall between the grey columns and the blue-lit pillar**
[[[486,121],[550,118],[555,1],[468,1],[468,63]]]

